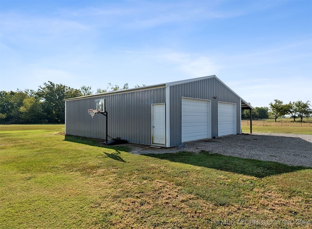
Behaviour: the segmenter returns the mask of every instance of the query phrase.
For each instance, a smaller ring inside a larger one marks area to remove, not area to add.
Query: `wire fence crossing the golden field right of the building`
[[[312,127],[312,120],[300,120],[293,122],[290,120],[253,120],[253,126],[292,126],[292,127]],[[242,126],[250,126],[250,120],[242,120]]]

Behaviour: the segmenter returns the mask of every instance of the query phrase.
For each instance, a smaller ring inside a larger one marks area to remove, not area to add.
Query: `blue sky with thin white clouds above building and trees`
[[[312,101],[312,1],[0,0],[0,90],[207,75],[252,106]]]

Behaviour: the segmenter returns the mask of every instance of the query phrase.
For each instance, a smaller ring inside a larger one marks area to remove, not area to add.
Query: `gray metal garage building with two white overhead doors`
[[[88,115],[105,99],[108,117]],[[65,133],[176,146],[241,133],[241,110],[253,109],[215,75],[65,100]]]

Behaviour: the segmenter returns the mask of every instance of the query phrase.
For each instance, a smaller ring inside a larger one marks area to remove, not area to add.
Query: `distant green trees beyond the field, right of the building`
[[[304,117],[310,117],[312,115],[312,109],[310,106],[310,101],[304,103],[298,100],[296,102],[284,104],[283,101],[274,99],[274,102],[270,103],[269,107],[254,107],[252,110],[252,117],[253,119],[273,118],[276,122],[277,118],[290,115],[294,122],[296,121],[296,118],[300,118],[300,121],[302,122]],[[249,118],[250,111],[244,110],[242,112],[242,119]]]

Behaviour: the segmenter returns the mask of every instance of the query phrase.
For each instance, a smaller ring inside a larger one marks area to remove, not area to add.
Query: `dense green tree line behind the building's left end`
[[[98,88],[95,94],[120,89],[128,89],[128,83],[123,87],[109,83],[106,89]],[[0,91],[0,123],[65,123],[64,100],[91,94],[94,92],[88,86],[75,89],[51,81],[39,86],[37,91]]]

